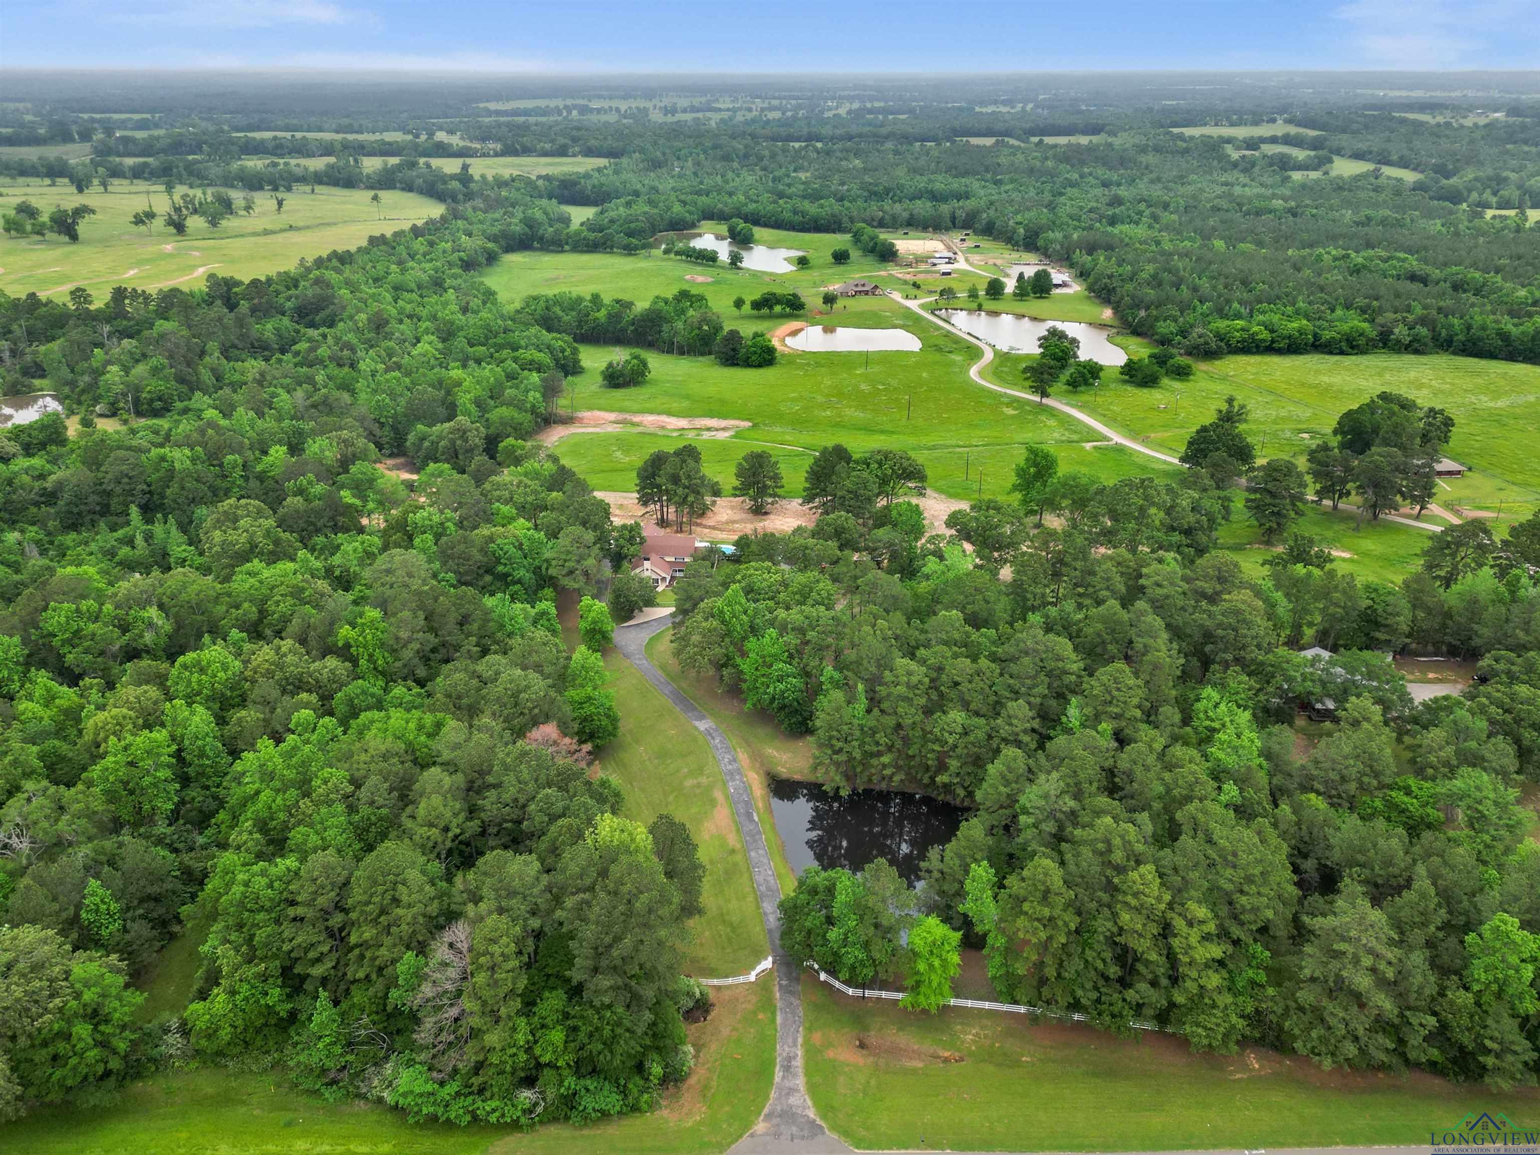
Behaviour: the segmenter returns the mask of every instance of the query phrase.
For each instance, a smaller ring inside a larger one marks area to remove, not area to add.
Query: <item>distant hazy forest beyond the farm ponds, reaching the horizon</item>
[[[1540,363],[1540,234],[1528,228],[1529,209],[1540,208],[1540,117],[1528,102],[1465,125],[1400,114],[1428,102],[1295,88],[1258,108],[1255,136],[1215,137],[1170,129],[1244,123],[1241,109],[1255,102],[1173,108],[1124,91],[1090,116],[1067,95],[1003,111],[973,100],[890,92],[865,111],[844,102],[838,116],[827,100],[775,116],[739,116],[727,102],[721,116],[658,120],[482,109],[477,119],[411,122],[411,136],[396,142],[259,142],[199,120],[157,122],[165,131],[131,137],[65,116],[42,123],[94,142],[89,160],[0,157],[0,172],[89,182],[100,168],[109,179],[400,188],[460,202],[477,182],[456,157],[610,157],[534,182],[561,203],[599,206],[582,226],[547,228],[536,243],[636,251],[659,233],[733,217],[813,233],[858,223],[973,229],[1069,263],[1132,331],[1198,357],[1441,350]],[[439,131],[464,136],[430,139]],[[1093,139],[1040,142],[1076,134]],[[1018,143],[966,143],[996,136]],[[274,156],[242,160],[256,148]],[[403,159],[370,169],[359,163],[365,154]],[[334,160],[291,163],[323,156]],[[1377,168],[1318,177],[1334,156],[1417,179]]]

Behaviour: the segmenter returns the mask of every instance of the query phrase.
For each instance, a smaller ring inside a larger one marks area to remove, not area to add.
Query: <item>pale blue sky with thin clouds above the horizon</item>
[[[0,68],[1540,68],[1540,0],[0,0]]]

